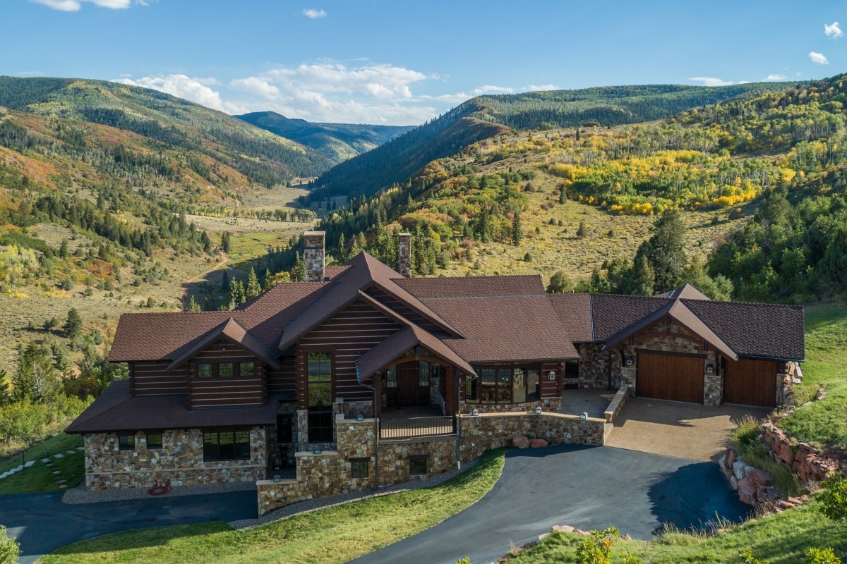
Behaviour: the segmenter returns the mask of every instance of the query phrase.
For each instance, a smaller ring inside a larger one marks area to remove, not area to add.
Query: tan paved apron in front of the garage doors
[[[764,418],[767,408],[720,407],[630,398],[615,418],[606,446],[693,460],[717,460],[729,433],[745,415]]]

